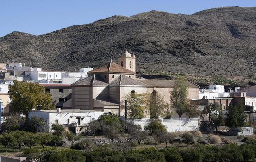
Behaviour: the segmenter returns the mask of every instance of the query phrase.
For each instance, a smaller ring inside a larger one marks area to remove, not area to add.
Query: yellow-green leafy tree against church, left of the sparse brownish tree
[[[150,102],[150,93],[129,93],[123,98],[124,100],[127,100],[127,112],[129,118],[144,118],[144,111],[148,109]]]

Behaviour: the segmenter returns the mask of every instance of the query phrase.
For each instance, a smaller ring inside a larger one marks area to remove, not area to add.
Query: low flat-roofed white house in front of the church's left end
[[[104,112],[94,111],[94,110],[77,110],[77,109],[63,109],[60,108],[55,110],[40,110],[31,111],[28,114],[28,118],[32,116],[37,116],[38,118],[43,118],[49,127],[49,132],[51,132],[51,125],[53,123],[58,123],[63,126],[67,126],[75,134],[80,134],[84,131],[85,126],[93,120],[97,120],[100,115]]]

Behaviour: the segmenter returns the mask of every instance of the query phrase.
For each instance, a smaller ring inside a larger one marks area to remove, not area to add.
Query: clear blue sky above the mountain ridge
[[[256,0],[0,0],[0,37],[12,31],[40,35],[113,15],[193,14],[224,6],[253,7]]]

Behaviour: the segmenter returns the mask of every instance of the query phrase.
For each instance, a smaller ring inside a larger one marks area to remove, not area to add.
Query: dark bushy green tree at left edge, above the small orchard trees
[[[1,123],[1,134],[19,130],[19,122],[21,121],[22,119],[19,116],[10,115],[5,122]]]

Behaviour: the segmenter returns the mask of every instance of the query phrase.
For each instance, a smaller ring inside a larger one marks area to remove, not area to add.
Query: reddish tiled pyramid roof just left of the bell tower
[[[121,67],[119,64],[116,64],[115,62],[108,62],[105,65],[101,66],[98,69],[93,69],[91,71],[88,71],[87,73],[101,73],[101,72],[113,72],[113,73],[131,73],[134,74],[133,71],[128,70],[124,67]]]

